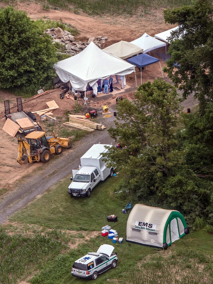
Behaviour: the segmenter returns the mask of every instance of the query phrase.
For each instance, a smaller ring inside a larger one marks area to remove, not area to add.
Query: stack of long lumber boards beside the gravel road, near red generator
[[[90,132],[95,129],[104,130],[106,128],[105,125],[89,120],[85,115],[69,114],[69,122],[64,122],[63,124]]]

